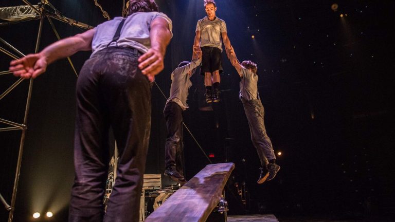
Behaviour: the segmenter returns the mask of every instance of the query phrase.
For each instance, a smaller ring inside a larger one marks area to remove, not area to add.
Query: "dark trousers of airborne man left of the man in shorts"
[[[184,175],[183,109],[175,102],[168,102],[163,115],[167,126],[165,168],[174,168]]]

